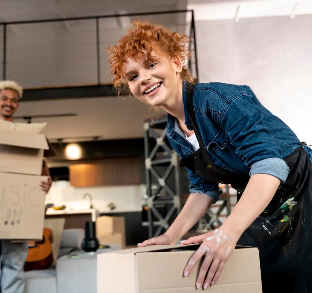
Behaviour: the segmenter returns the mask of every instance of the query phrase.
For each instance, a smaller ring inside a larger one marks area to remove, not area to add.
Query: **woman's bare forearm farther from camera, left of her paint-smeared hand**
[[[212,203],[212,198],[206,194],[191,193],[182,211],[165,232],[170,242],[175,244],[188,232],[205,215]]]

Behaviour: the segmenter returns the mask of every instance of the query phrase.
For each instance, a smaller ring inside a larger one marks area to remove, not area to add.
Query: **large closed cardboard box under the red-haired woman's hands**
[[[183,277],[184,267],[197,248],[194,244],[189,247],[161,245],[99,254],[97,292],[199,292],[195,282],[201,262],[188,277]],[[258,249],[237,247],[216,285],[208,290],[211,293],[262,293]]]

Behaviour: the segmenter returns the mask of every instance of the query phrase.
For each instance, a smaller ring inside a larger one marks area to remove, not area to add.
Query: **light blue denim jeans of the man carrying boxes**
[[[28,254],[27,242],[1,244],[1,293],[24,293],[24,263]]]

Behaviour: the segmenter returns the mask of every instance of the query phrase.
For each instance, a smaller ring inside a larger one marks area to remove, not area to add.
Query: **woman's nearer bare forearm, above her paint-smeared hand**
[[[223,225],[241,235],[272,200],[280,180],[268,174],[251,176],[244,193]]]

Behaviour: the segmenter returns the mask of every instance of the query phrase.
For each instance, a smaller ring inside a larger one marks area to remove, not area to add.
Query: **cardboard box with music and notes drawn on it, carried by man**
[[[42,239],[45,194],[39,184],[43,180],[47,176],[0,172],[0,239]]]

